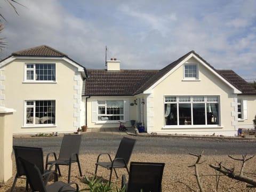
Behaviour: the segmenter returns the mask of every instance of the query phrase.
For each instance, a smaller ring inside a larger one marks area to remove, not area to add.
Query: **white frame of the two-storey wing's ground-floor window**
[[[47,117],[46,116],[43,116],[41,118],[39,117],[36,117],[36,101],[54,101],[55,102],[55,106],[52,106],[54,107],[54,112],[52,112],[52,109],[51,111],[40,111],[39,113],[42,113],[42,112],[45,112],[45,113],[54,113],[54,121],[55,123],[44,123],[44,122],[48,122],[49,120],[51,120],[50,117]],[[30,102],[31,105],[27,105],[27,103]],[[33,117],[28,117],[27,116],[27,108],[33,108]],[[28,118],[30,118],[30,122],[31,123],[27,123],[28,121]],[[46,99],[46,100],[25,100],[25,103],[24,103],[24,126],[25,127],[42,127],[42,126],[55,126],[56,124],[56,101],[55,100],[52,100],[52,99]]]

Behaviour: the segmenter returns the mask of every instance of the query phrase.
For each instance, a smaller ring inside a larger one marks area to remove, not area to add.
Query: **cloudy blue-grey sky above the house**
[[[0,2],[11,53],[48,45],[88,69],[162,69],[191,50],[216,69],[256,81],[255,0],[16,0]]]

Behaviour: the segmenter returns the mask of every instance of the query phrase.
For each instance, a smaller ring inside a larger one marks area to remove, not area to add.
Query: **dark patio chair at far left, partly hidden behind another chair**
[[[14,190],[17,179],[26,179],[26,190],[28,190],[28,180],[26,177],[25,170],[19,161],[19,157],[27,159],[34,163],[42,175],[47,173],[47,170],[44,170],[44,155],[43,149],[38,147],[23,147],[23,146],[13,146],[14,154],[15,154],[15,162],[16,162],[16,170],[15,178],[12,184],[11,192]],[[52,166],[51,166],[52,167]],[[50,167],[50,170],[51,170]],[[49,175],[50,176],[50,175]],[[45,180],[49,180],[49,177],[44,177]]]

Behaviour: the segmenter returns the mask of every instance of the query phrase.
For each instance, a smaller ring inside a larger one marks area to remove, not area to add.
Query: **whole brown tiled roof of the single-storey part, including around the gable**
[[[242,94],[256,95],[254,87],[247,83],[242,77],[238,76],[234,71],[215,69],[195,51],[188,52],[161,70],[87,70],[90,78],[85,80],[85,95],[114,96],[140,94],[156,83],[191,53],[195,54],[199,59],[204,61],[206,65],[227,79],[227,81],[233,84],[238,90],[242,91]]]

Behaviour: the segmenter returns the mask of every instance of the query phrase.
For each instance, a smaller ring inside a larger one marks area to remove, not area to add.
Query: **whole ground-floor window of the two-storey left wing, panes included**
[[[25,101],[26,125],[55,124],[55,101]]]

